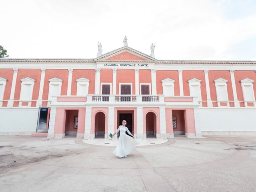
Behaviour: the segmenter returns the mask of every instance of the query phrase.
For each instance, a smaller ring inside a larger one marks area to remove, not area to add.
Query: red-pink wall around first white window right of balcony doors
[[[163,87],[161,80],[170,78],[175,80],[174,82],[174,96],[180,95],[180,85],[179,85],[179,74],[177,70],[157,70],[156,71],[156,91],[157,94],[163,94]]]

